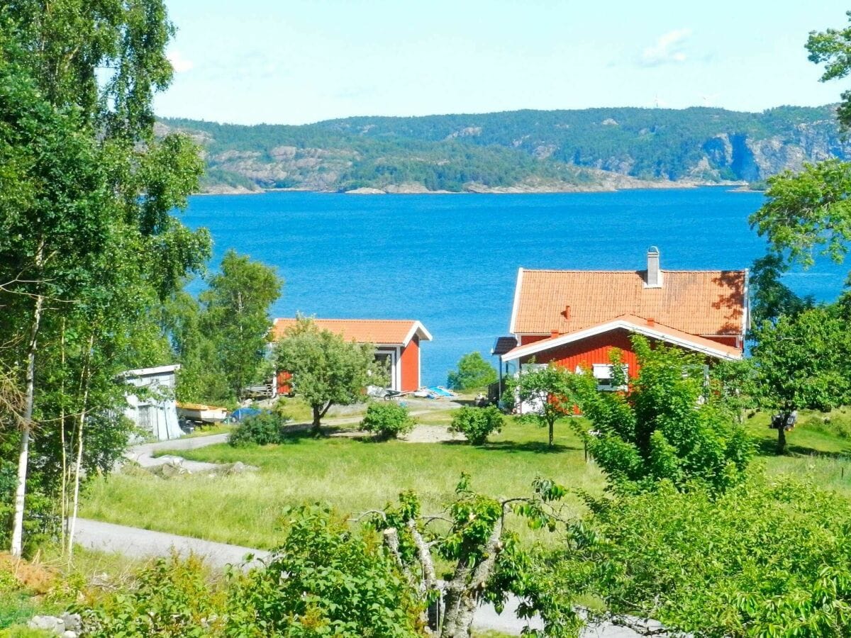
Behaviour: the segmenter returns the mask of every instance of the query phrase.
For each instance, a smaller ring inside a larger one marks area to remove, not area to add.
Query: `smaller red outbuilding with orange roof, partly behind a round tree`
[[[422,323],[395,319],[313,319],[317,328],[343,335],[346,341],[375,345],[375,358],[387,363],[390,388],[401,392],[420,388],[420,341],[431,341]],[[283,338],[295,319],[276,319],[272,338]],[[286,382],[286,379],[284,379]]]

